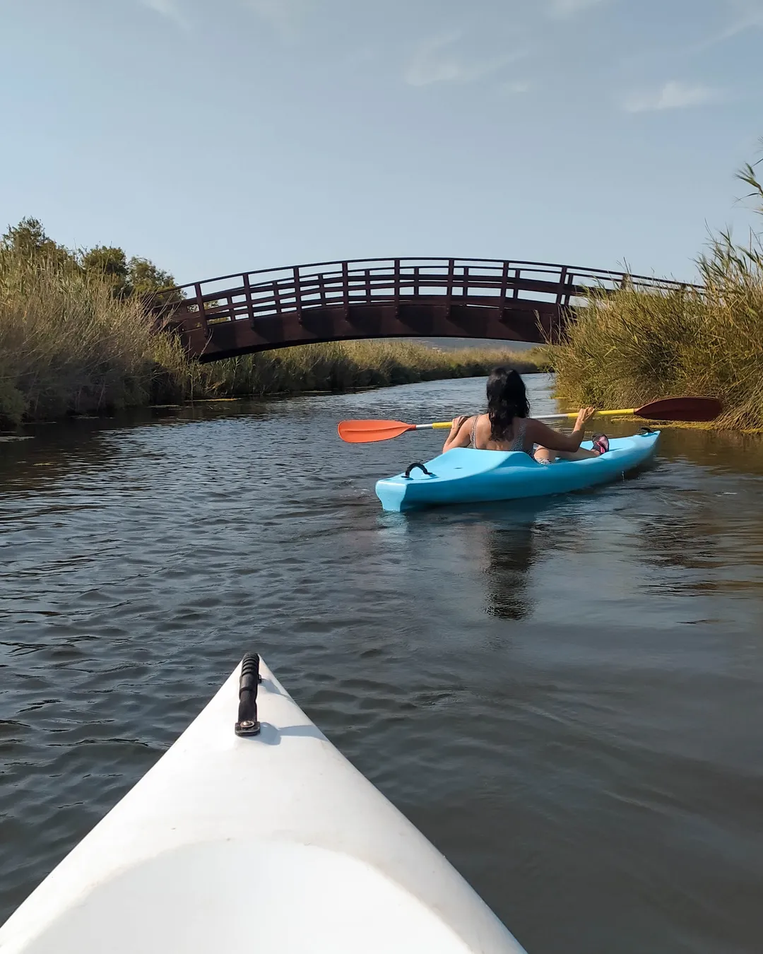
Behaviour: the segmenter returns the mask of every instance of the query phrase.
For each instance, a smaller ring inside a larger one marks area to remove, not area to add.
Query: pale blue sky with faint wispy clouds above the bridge
[[[0,0],[0,226],[180,282],[396,256],[691,280],[709,229],[754,223],[761,41],[763,0]]]

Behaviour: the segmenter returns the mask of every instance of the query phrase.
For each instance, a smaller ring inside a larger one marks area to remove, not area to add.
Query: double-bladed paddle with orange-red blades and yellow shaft
[[[716,398],[662,398],[644,404],[643,407],[629,407],[620,410],[596,411],[600,417],[632,415],[646,418],[648,421],[714,421],[723,410],[723,404]],[[577,411],[568,414],[538,414],[542,421],[568,421],[578,416]],[[337,426],[340,438],[348,444],[369,444],[372,441],[389,441],[399,437],[406,430],[443,430],[452,422],[441,421],[436,424],[403,424],[402,421],[340,421]]]

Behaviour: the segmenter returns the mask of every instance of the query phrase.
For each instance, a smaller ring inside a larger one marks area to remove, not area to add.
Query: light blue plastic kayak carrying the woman
[[[408,467],[406,473],[377,481],[385,510],[440,504],[476,504],[567,493],[618,480],[654,453],[660,432],[617,437],[600,457],[538,464],[521,451],[453,447],[439,457]],[[581,445],[588,450],[590,441]]]

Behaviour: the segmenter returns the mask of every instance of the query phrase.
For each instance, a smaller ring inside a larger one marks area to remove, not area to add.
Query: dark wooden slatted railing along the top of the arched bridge
[[[585,300],[592,288],[674,289],[685,282],[602,269],[499,259],[348,259],[265,269],[180,285],[182,323],[206,328],[221,321],[256,321],[312,308],[415,301],[548,309]],[[179,317],[179,316],[178,316]]]

